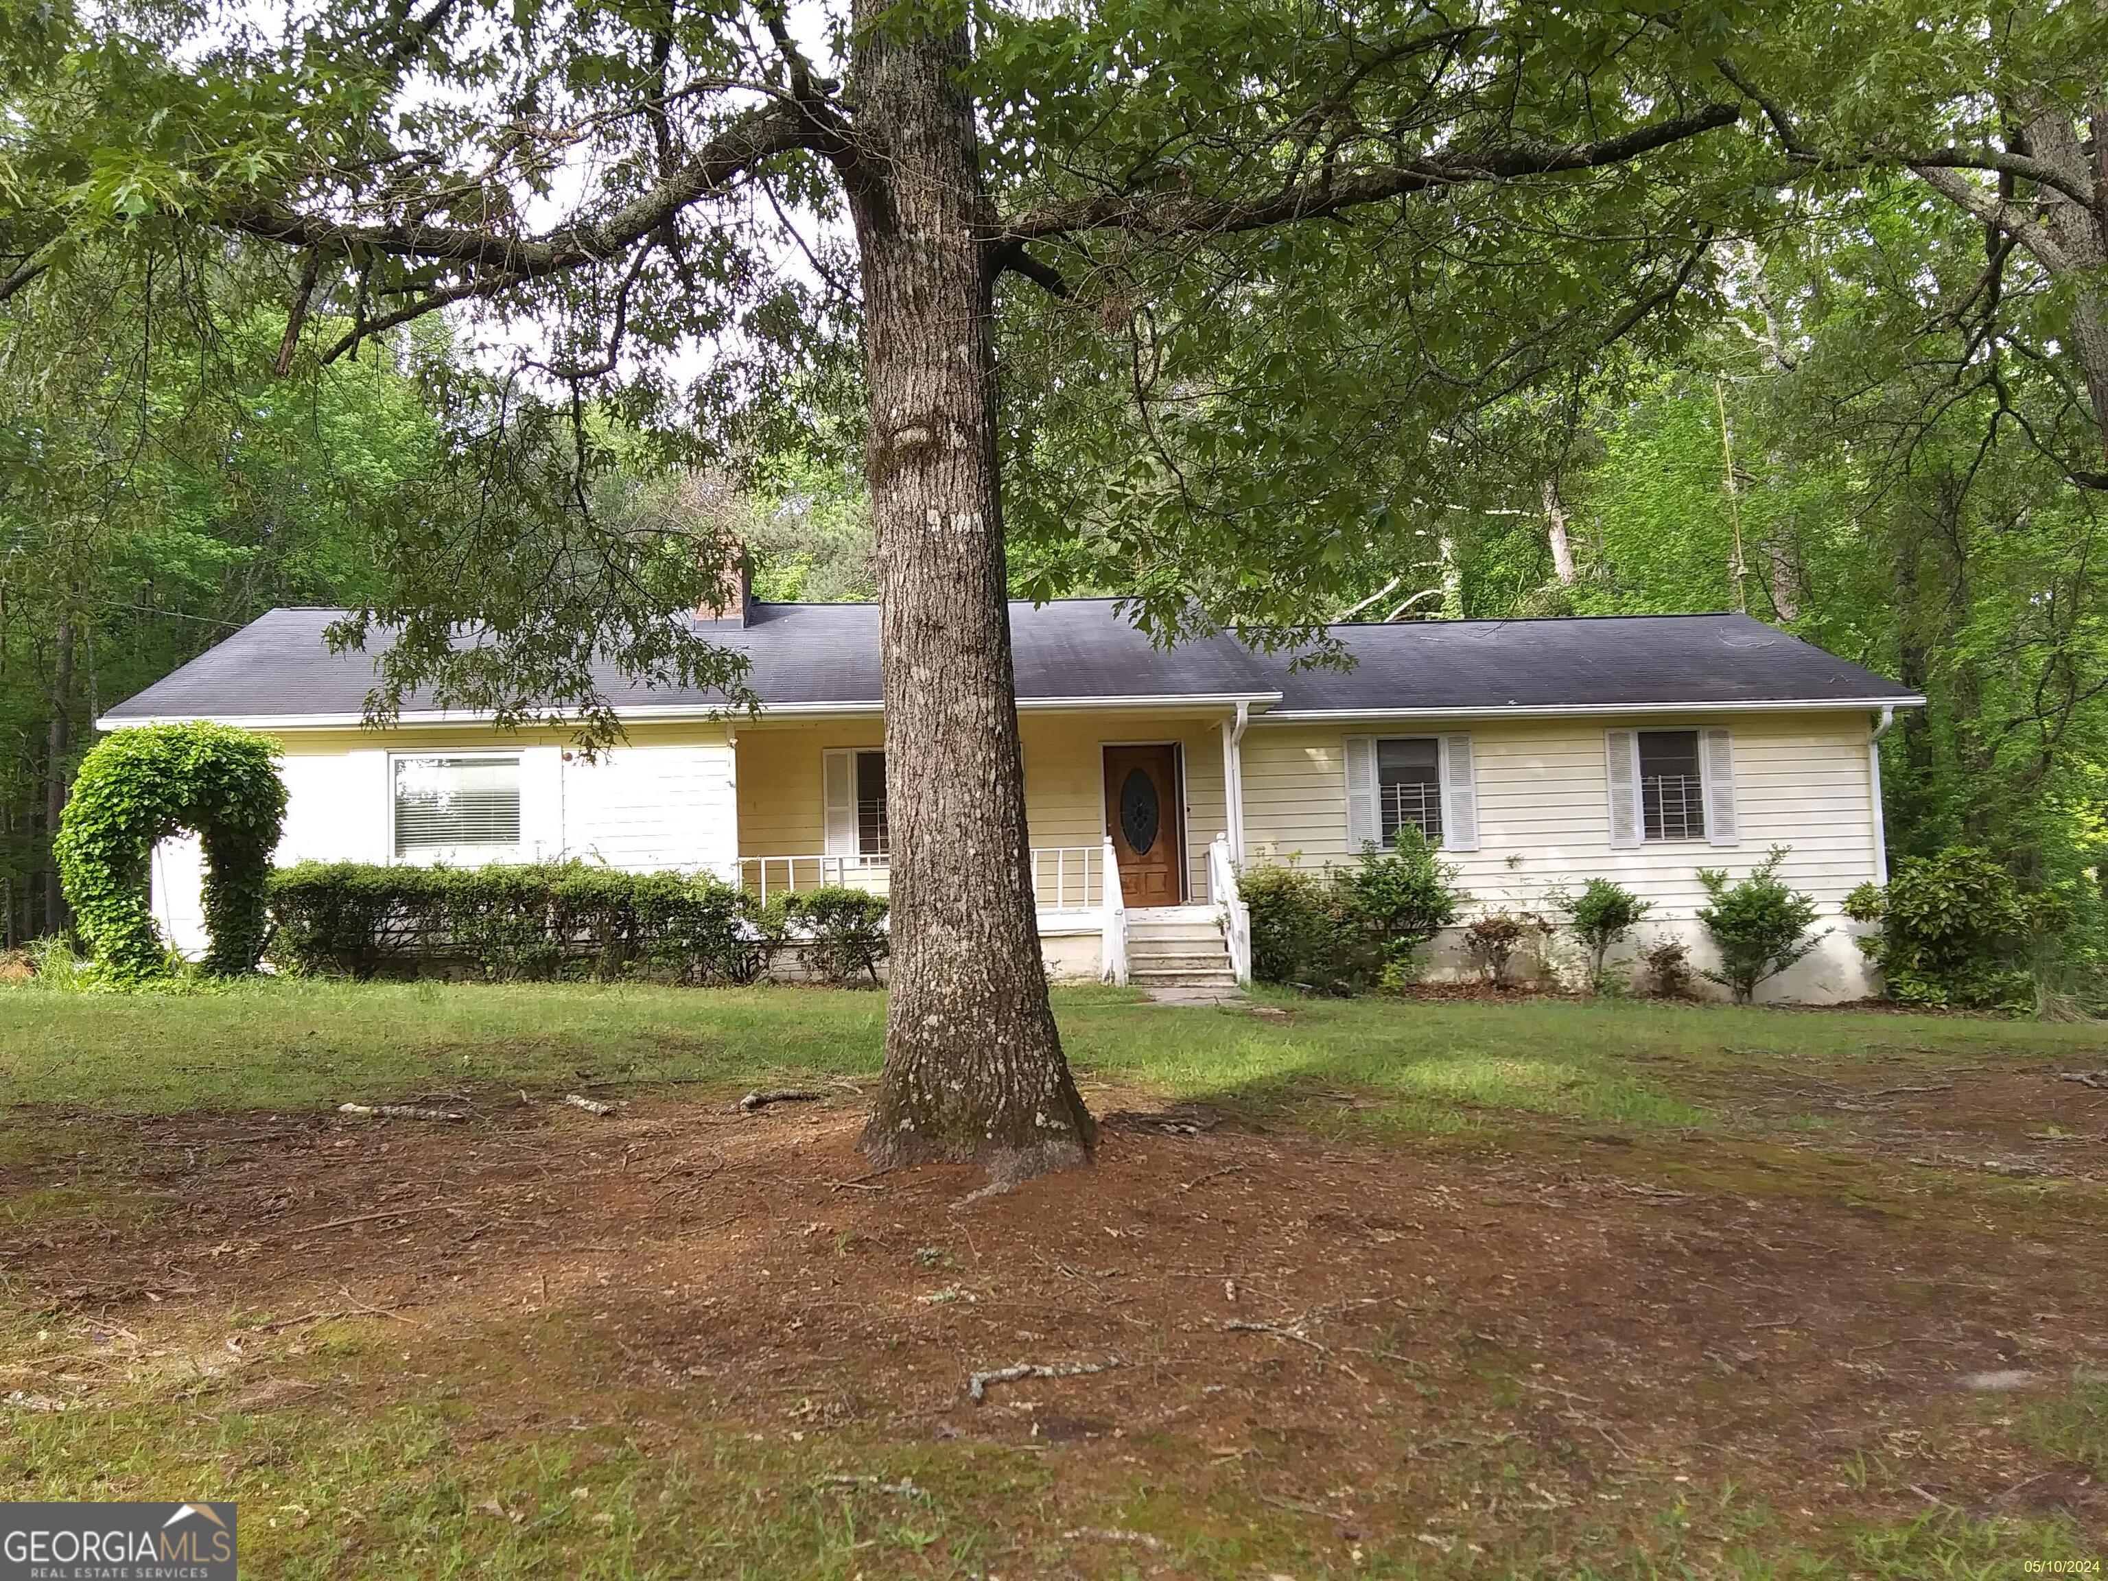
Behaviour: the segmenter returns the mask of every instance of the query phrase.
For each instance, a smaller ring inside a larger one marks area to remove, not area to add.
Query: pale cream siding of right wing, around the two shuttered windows
[[[1735,845],[1611,847],[1604,729],[1729,725],[1735,736]],[[1874,877],[1874,805],[1866,713],[1589,721],[1480,721],[1480,850],[1457,852],[1459,883],[1486,904],[1530,906],[1545,890],[1602,875],[1655,902],[1661,919],[1703,902],[1697,868],[1745,873],[1790,845],[1785,879],[1834,911]],[[1347,856],[1349,734],[1423,736],[1425,727],[1267,725],[1244,738],[1244,839],[1250,860],[1339,862]]]

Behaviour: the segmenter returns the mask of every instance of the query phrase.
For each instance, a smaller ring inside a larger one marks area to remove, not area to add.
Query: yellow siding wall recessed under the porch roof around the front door
[[[1024,818],[1035,847],[1098,847],[1105,841],[1105,744],[1178,742],[1187,788],[1187,881],[1193,896],[1206,896],[1208,841],[1225,826],[1223,734],[1216,719],[1121,710],[1027,713],[1020,725]],[[883,727],[877,719],[740,725],[740,854],[822,852],[822,753],[881,744]]]

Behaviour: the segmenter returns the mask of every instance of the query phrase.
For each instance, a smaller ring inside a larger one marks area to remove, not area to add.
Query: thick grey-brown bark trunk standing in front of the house
[[[852,97],[894,955],[875,1164],[1081,1164],[1039,955],[1010,666],[965,32],[858,0]]]

